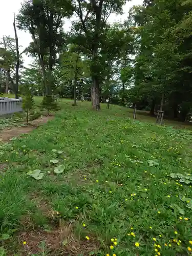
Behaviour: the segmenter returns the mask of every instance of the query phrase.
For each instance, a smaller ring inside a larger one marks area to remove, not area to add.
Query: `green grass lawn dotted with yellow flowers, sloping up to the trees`
[[[191,131],[133,121],[119,106],[61,105],[54,120],[0,147],[0,255],[187,255]],[[44,177],[29,176],[34,169]]]

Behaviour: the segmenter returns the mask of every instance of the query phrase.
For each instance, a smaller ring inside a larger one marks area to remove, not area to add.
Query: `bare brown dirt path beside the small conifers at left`
[[[13,137],[18,137],[19,135],[30,133],[34,129],[37,129],[40,125],[47,123],[52,120],[54,116],[42,116],[36,120],[30,122],[30,125],[24,127],[13,127],[11,129],[4,129],[0,134],[0,142],[7,142]]]

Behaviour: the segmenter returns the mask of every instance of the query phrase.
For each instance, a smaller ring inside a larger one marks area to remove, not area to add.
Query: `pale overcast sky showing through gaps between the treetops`
[[[13,30],[13,13],[15,12],[15,15],[18,14],[18,11],[20,9],[21,3],[23,0],[0,0],[1,3],[1,9],[0,9],[0,38],[3,36],[10,35],[11,37],[14,37],[14,30]],[[123,15],[115,15],[112,14],[109,18],[109,22],[116,22],[120,20],[124,20],[129,13],[129,10],[134,5],[141,5],[143,0],[132,0],[131,2],[127,2],[127,4],[124,6]],[[65,30],[70,29],[70,22],[66,22],[65,24]],[[28,32],[25,31],[17,31],[18,34],[18,42],[19,45],[22,46],[20,51],[24,50],[26,47],[29,46],[29,42],[31,41],[31,36]],[[27,66],[31,62],[31,58],[24,56],[25,63],[24,65]]]

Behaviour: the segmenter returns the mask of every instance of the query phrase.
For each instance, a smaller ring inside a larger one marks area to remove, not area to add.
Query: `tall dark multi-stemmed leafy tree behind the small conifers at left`
[[[36,52],[42,70],[46,94],[51,93],[53,66],[56,53],[63,45],[63,21],[73,12],[71,1],[26,0],[17,16],[19,29],[28,30],[33,38],[32,48]],[[48,73],[45,70],[45,56],[48,54]]]

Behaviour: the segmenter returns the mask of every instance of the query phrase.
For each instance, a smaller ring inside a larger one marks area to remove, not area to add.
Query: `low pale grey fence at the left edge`
[[[0,116],[23,111],[22,98],[11,99],[0,97]]]

